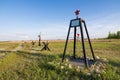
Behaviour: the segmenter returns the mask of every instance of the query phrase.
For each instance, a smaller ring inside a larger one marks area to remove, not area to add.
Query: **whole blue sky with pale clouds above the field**
[[[0,40],[65,39],[76,9],[91,38],[120,30],[120,0],[0,0]]]

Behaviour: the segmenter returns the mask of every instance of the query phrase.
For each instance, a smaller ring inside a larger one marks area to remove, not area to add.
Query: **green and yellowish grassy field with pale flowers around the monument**
[[[61,63],[64,41],[50,41],[51,51],[30,42],[0,42],[0,80],[120,80],[120,40],[93,40],[95,56],[100,62],[90,69],[69,63],[73,42],[68,43],[66,59]],[[81,42],[77,42],[77,57],[83,56]],[[87,56],[91,58],[88,42]],[[99,66],[99,67],[98,67]]]

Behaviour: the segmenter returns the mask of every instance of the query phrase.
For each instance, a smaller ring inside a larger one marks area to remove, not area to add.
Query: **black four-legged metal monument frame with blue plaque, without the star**
[[[87,61],[87,57],[86,57],[86,50],[85,50],[85,44],[84,44],[84,35],[83,35],[82,23],[83,23],[83,25],[85,27],[85,31],[86,31],[86,34],[87,34],[87,38],[88,38],[88,42],[89,42],[89,46],[90,46],[90,49],[91,49],[91,52],[92,52],[93,59],[95,60],[95,55],[94,55],[94,52],[93,52],[93,48],[92,48],[92,44],[91,44],[90,37],[89,37],[89,34],[88,34],[88,30],[87,30],[87,27],[86,27],[86,23],[81,18],[77,18],[77,19],[73,19],[73,20],[70,21],[70,25],[69,25],[69,29],[68,29],[68,34],[67,34],[67,39],[66,39],[66,43],[65,43],[63,57],[62,57],[62,62],[64,61],[64,57],[65,57],[65,53],[66,53],[66,49],[67,49],[67,44],[68,44],[68,39],[69,39],[69,34],[70,34],[71,28],[74,28],[73,58],[74,59],[76,58],[76,56],[75,56],[75,54],[76,54],[76,28],[80,27],[81,41],[82,41],[82,49],[83,49],[85,67],[88,68],[88,61]]]

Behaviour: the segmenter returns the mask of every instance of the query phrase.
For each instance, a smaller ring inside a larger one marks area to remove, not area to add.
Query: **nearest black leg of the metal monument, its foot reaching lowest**
[[[85,60],[85,67],[88,68],[88,62],[87,62],[86,51],[85,51],[84,35],[83,35],[81,19],[79,21],[80,21],[80,32],[81,32],[81,41],[82,41],[82,48],[83,48],[83,54],[84,54],[84,60]]]

